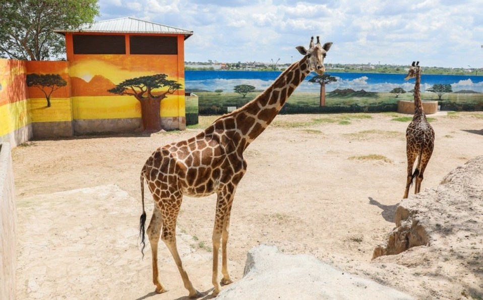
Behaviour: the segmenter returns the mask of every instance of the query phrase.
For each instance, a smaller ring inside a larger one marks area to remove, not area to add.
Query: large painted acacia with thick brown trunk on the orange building
[[[166,74],[155,74],[125,80],[107,92],[134,96],[141,103],[144,130],[159,131],[161,130],[161,100],[181,88],[182,85],[174,80],[167,80]]]

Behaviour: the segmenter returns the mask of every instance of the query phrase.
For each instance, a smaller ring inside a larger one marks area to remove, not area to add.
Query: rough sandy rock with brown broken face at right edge
[[[483,156],[480,156],[451,171],[438,187],[402,200],[396,209],[396,228],[389,233],[385,244],[374,249],[372,258],[431,246],[431,241],[446,239],[444,243],[449,245],[462,232],[467,232],[463,237],[474,237],[474,242],[479,244],[477,237],[483,225],[482,191]]]

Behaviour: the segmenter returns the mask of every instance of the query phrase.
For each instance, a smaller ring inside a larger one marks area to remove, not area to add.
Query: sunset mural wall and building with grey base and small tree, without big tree
[[[156,74],[165,74],[175,86],[151,91],[162,98],[161,127],[186,128],[182,35],[178,55],[81,55],[69,51],[66,42],[68,61],[0,59],[0,141],[16,146],[32,137],[140,130],[139,99],[112,91],[126,81]]]

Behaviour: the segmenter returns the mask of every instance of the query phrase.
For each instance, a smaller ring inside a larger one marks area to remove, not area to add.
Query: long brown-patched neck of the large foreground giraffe
[[[308,58],[304,56],[283,71],[257,98],[216,120],[215,127],[217,122],[223,122],[225,134],[230,134],[230,131],[238,132],[242,139],[240,143],[244,145],[242,148],[245,150],[268,127],[288,97],[310,72]]]

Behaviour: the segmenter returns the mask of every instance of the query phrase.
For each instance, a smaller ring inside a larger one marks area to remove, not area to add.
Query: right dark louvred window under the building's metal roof
[[[178,54],[177,37],[132,35],[129,37],[131,54]]]

